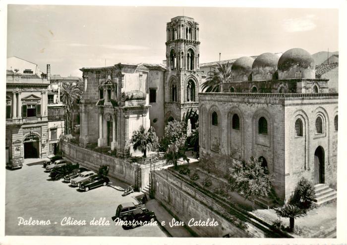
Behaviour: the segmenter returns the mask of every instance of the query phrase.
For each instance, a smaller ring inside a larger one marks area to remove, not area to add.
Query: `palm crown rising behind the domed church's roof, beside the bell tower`
[[[220,92],[221,83],[232,81],[231,65],[229,64],[229,61],[226,64],[217,64],[217,70],[209,71],[207,73],[208,78],[206,79],[206,82],[202,84],[202,91]]]

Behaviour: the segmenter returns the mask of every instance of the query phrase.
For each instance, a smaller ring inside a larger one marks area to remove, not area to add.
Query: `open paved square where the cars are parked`
[[[80,192],[69,183],[52,181],[42,165],[23,164],[19,170],[6,169],[5,235],[6,236],[127,236],[166,237],[157,226],[124,230],[111,217],[120,203],[134,202],[134,193],[121,196],[110,186]],[[137,193],[138,194],[138,193]],[[155,210],[153,210],[155,212]],[[50,225],[18,225],[19,219],[44,220]],[[66,217],[85,220],[86,225],[62,225]],[[93,226],[90,221],[105,218],[109,226]]]

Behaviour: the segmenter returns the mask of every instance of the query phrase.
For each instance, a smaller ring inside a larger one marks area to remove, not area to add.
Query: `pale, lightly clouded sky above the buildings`
[[[166,23],[178,15],[199,23],[200,63],[284,53],[339,50],[339,11],[327,8],[14,5],[7,8],[7,57],[42,71],[81,76],[82,67],[162,63]]]

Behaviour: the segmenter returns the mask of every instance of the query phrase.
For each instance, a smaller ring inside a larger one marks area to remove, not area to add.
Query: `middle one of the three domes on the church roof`
[[[268,73],[271,73],[271,80],[275,78],[279,56],[272,53],[264,53],[258,56],[252,65],[252,80],[269,80]],[[275,75],[275,76],[274,76]]]

